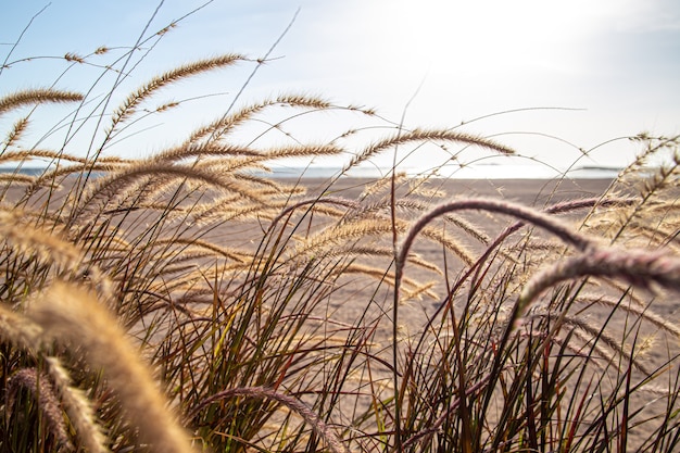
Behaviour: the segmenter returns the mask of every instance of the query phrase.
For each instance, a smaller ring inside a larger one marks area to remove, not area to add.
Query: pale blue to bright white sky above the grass
[[[156,9],[147,35],[203,3],[0,0],[0,59],[43,8],[9,61],[88,54],[102,45],[129,48]],[[575,162],[622,166],[640,144],[619,138],[680,134],[677,0],[214,0],[163,36],[135,68],[129,88],[199,58],[227,52],[261,58],[293,17],[238,102],[281,92],[320,95],[338,104],[375,108],[386,118],[377,129],[382,135],[393,131],[390,122],[457,127],[561,168]],[[0,73],[0,92],[50,85],[64,67],[53,59],[14,64]],[[179,99],[217,96],[187,102],[184,116],[140,125],[143,134],[135,137],[150,137],[149,142],[127,140],[119,152],[152,153],[176,141],[173,134],[182,127],[189,131],[219,116],[253,67],[182,83]],[[100,74],[92,67],[70,71],[56,86],[83,90]],[[327,139],[337,134],[336,123],[345,121],[353,118],[310,116],[300,127],[327,128],[322,137]],[[381,159],[379,165],[391,162]],[[442,159],[421,152],[407,165],[431,168]]]

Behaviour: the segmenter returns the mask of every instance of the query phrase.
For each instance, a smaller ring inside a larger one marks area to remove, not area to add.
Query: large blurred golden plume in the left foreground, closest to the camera
[[[29,314],[54,340],[81,348],[88,362],[102,368],[141,439],[154,451],[192,451],[188,433],[171,414],[150,368],[97,297],[74,285],[54,282]]]

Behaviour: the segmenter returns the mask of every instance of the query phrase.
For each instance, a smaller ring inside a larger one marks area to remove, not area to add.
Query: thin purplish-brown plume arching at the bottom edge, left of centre
[[[328,445],[328,449],[332,453],[349,453],[349,449],[342,443],[342,441],[330,429],[330,427],[326,425],[326,423],[324,423],[324,420],[303,402],[287,394],[279,393],[274,389],[268,389],[265,387],[242,387],[238,389],[224,390],[201,401],[200,404],[193,408],[192,414],[190,414],[189,418],[192,418],[200,411],[217,401],[235,397],[268,399],[284,404],[298,415],[302,416],[302,418],[304,418],[304,420],[312,427],[312,429],[314,429],[314,432],[316,432],[318,437],[324,439],[324,441]]]

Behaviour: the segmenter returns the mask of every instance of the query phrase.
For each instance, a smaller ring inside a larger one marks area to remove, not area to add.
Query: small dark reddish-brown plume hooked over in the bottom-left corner
[[[42,418],[47,421],[47,429],[56,441],[56,449],[73,451],[74,446],[68,438],[56,391],[48,376],[43,373],[38,373],[36,368],[23,368],[10,377],[7,387],[8,394],[5,395],[5,410],[10,412],[8,418],[12,417],[11,414],[14,410],[20,388],[27,390],[38,403]]]

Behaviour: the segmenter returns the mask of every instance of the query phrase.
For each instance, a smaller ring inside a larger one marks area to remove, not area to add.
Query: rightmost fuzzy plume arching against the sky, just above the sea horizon
[[[362,162],[365,162],[392,147],[419,141],[453,141],[458,143],[476,144],[488,150],[496,151],[501,154],[515,154],[515,151],[513,149],[504,144],[471,134],[458,133],[448,129],[414,129],[412,131],[401,130],[400,134],[388,137],[366,147],[362,152],[352,158],[352,160],[344,166],[343,171],[347,172],[350,168],[355,167]]]

